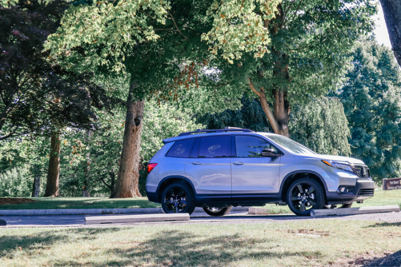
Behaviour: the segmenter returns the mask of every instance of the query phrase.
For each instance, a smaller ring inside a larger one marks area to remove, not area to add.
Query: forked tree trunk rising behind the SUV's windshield
[[[281,24],[284,22],[284,14],[281,7],[281,4],[277,6],[277,14],[276,19],[281,21]],[[264,20],[263,22],[265,28],[269,28],[269,20]],[[271,34],[274,35],[278,32],[280,24],[276,22],[272,26]],[[275,48],[272,48],[273,53],[277,56],[277,61],[274,63],[273,75],[279,80],[289,80],[289,71],[288,66],[286,66],[287,55],[276,51]],[[258,71],[259,78],[263,79],[263,71]],[[260,91],[257,91],[254,87],[251,79],[248,79],[249,86],[252,91],[259,97],[260,103],[262,105],[263,111],[266,114],[266,117],[273,128],[273,131],[276,134],[280,134],[286,137],[290,137],[289,128],[288,128],[288,120],[290,114],[290,103],[287,100],[287,88],[278,88],[277,86],[273,86],[271,88],[274,103],[273,103],[273,111],[267,102],[265,95],[265,88],[259,88]]]

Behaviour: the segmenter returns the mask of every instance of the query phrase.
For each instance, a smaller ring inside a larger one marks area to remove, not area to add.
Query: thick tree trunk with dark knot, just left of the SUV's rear
[[[139,149],[143,120],[144,100],[133,99],[133,90],[137,84],[130,86],[125,116],[124,138],[118,170],[117,182],[110,198],[127,198],[141,196],[138,188]]]

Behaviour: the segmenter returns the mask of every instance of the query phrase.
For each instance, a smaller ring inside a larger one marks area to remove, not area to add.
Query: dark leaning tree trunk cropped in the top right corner
[[[401,66],[401,0],[380,0],[392,51]]]

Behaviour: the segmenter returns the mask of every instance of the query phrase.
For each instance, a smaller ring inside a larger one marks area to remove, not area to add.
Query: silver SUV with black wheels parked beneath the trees
[[[287,204],[297,215],[350,207],[373,196],[363,161],[318,155],[281,135],[227,127],[163,140],[148,164],[148,199],[166,213],[203,207],[213,216],[233,206]]]

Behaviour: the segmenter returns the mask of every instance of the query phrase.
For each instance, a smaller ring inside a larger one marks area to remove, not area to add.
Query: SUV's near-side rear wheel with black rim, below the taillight
[[[189,213],[195,209],[192,189],[182,183],[167,186],[161,194],[161,207],[165,213]]]

